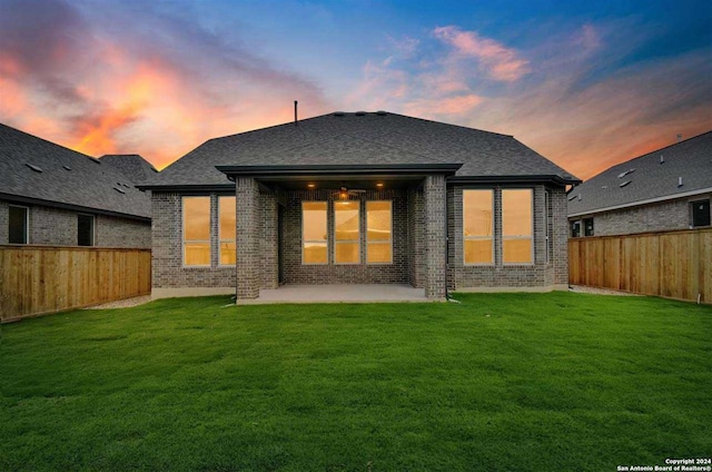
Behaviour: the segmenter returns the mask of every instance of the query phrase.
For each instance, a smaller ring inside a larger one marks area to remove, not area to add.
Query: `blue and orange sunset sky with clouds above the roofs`
[[[0,121],[158,168],[335,110],[514,135],[581,178],[712,129],[708,1],[0,0]]]

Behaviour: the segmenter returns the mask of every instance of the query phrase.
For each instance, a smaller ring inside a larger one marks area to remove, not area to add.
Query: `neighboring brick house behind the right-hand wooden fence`
[[[712,131],[619,164],[568,194],[572,237],[710,227]]]

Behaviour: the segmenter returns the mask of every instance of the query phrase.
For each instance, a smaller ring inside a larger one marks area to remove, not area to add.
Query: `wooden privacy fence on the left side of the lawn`
[[[150,292],[150,249],[0,246],[0,322]]]

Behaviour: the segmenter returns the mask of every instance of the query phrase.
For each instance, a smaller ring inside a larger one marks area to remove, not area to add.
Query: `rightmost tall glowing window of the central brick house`
[[[502,190],[504,264],[532,263],[532,190]]]

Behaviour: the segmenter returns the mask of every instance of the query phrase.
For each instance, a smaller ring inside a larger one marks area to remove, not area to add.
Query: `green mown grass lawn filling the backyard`
[[[4,325],[0,470],[613,471],[712,452],[712,307],[457,298]]]

